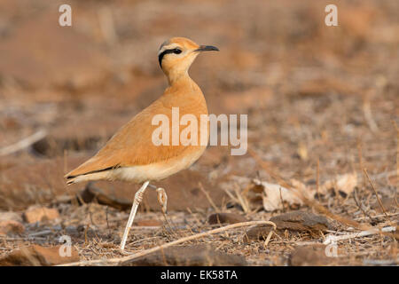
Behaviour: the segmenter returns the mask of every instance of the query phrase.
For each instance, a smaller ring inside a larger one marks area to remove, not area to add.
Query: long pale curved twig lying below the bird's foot
[[[250,221],[250,222],[236,223],[236,224],[232,224],[232,225],[226,225],[221,228],[217,228],[217,229],[207,231],[204,233],[197,233],[192,236],[184,237],[184,238],[176,240],[176,241],[170,241],[166,244],[160,245],[155,248],[148,248],[148,249],[138,252],[137,254],[133,254],[130,256],[123,256],[123,257],[111,258],[111,259],[106,259],[106,260],[105,259],[96,259],[96,260],[82,261],[82,262],[76,262],[76,263],[70,263],[70,264],[60,264],[60,266],[74,266],[74,265],[88,265],[88,264],[98,264],[98,265],[123,264],[123,263],[129,262],[137,257],[149,255],[149,254],[156,252],[160,249],[165,249],[165,248],[168,248],[171,246],[175,246],[184,241],[192,241],[192,240],[199,239],[199,238],[202,238],[207,235],[211,235],[214,233],[221,233],[221,232],[224,232],[224,231],[227,231],[230,229],[234,229],[234,228],[241,227],[241,226],[247,226],[247,225],[272,225],[275,229],[277,227],[276,224],[274,224],[273,222],[270,222],[270,221]]]

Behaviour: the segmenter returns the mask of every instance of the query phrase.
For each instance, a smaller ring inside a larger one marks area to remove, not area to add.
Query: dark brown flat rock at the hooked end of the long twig
[[[291,234],[311,233],[318,235],[320,231],[333,229],[333,226],[324,216],[305,211],[293,211],[271,217],[270,221],[277,225],[276,233],[284,237],[285,232]],[[249,228],[244,236],[244,241],[266,240],[272,225],[257,225]]]

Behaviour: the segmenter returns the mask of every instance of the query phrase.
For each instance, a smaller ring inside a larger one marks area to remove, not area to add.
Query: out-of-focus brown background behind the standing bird
[[[72,27],[59,26],[60,4]],[[338,27],[325,26],[325,6]],[[248,114],[248,146],[282,177],[315,185],[359,164],[387,196],[397,185],[399,2],[95,1],[0,2],[0,149],[45,130],[0,156],[0,209],[56,206],[86,185],[63,175],[95,154],[114,131],[167,87],[157,52],[172,36],[215,45],[190,75],[210,113]],[[208,147],[192,169],[158,185],[169,210],[231,202],[238,177],[270,176],[254,155]],[[245,184],[245,183],[244,183]],[[127,209],[136,185],[96,183]],[[363,190],[363,189],[362,189]],[[364,191],[368,190],[364,188]],[[117,208],[117,207],[116,207]],[[153,191],[141,209],[159,210]]]

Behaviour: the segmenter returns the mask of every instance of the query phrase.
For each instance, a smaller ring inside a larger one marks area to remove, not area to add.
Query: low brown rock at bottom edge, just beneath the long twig
[[[244,266],[244,256],[226,254],[205,245],[169,247],[149,256],[142,256],[126,263],[132,266]]]

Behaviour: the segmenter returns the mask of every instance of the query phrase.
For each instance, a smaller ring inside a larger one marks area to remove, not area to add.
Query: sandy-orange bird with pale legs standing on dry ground
[[[188,74],[192,62],[203,51],[219,51],[219,49],[213,45],[199,45],[185,37],[172,37],[162,43],[158,51],[158,61],[161,70],[168,78],[166,90],[159,99],[145,107],[121,129],[117,130],[97,154],[65,176],[67,185],[95,180],[121,180],[141,184],[135,194],[129,220],[121,239],[122,252],[138,205],[150,182],[158,181],[189,168],[200,158],[207,147],[203,143],[200,145],[153,143],[153,132],[157,128],[157,125],[153,125],[155,115],[165,115],[170,121],[173,109],[176,107],[178,107],[180,116],[192,114],[200,120],[201,115],[208,114],[204,94]],[[207,140],[209,138],[208,127],[207,125]],[[203,131],[203,128],[198,128],[198,137],[201,135],[201,130]],[[169,123],[166,132],[173,131],[174,127]],[[169,142],[170,140],[169,138]],[[163,188],[156,188],[156,190],[162,212],[166,212],[168,196]]]

